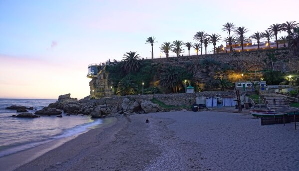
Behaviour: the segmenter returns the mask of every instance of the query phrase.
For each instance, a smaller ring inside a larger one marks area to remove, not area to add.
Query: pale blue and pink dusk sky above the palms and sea
[[[150,58],[150,36],[159,57],[163,42],[195,43],[200,30],[226,37],[226,22],[247,27],[246,36],[299,22],[298,6],[298,0],[0,0],[0,98],[81,99],[90,92],[90,63],[120,61],[129,51]]]

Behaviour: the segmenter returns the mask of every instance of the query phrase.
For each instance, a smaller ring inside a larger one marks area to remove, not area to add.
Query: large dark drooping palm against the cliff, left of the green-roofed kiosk
[[[174,93],[183,88],[179,72],[171,65],[162,70],[159,84],[165,88],[170,88]]]

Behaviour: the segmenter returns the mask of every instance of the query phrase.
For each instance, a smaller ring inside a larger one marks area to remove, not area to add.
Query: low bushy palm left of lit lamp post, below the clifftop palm
[[[122,79],[116,91],[117,95],[125,96],[131,95],[138,92],[138,86],[129,78],[129,79]]]

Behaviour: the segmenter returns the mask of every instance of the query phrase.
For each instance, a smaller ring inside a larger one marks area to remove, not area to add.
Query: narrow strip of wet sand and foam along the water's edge
[[[46,154],[47,152],[60,147],[64,143],[67,143],[73,139],[76,139],[77,137],[79,137],[82,134],[85,134],[93,129],[101,129],[102,127],[105,127],[114,122],[115,121],[113,119],[103,119],[102,124],[99,124],[97,126],[91,126],[90,129],[87,130],[86,132],[83,132],[83,133],[80,133],[77,135],[73,135],[70,137],[64,137],[61,139],[53,140],[53,141],[38,145],[36,147],[30,148],[30,149],[22,150],[22,151],[19,151],[19,152],[16,152],[16,153],[13,153],[13,154],[10,154],[7,156],[3,156],[0,158],[1,169],[5,170],[5,171],[15,170],[16,168],[18,168],[22,165],[25,165],[25,164],[37,159],[38,157]],[[93,127],[95,127],[95,128],[93,128]]]

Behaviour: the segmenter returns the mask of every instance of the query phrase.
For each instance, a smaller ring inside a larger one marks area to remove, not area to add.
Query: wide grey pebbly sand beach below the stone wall
[[[299,130],[294,123],[261,126],[260,119],[232,111],[108,118],[102,127],[16,171],[299,170]]]

